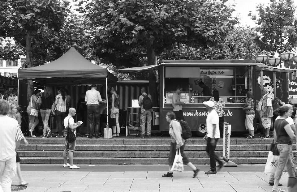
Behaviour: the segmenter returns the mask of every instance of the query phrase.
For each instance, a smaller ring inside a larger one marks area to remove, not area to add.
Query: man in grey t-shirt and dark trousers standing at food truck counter
[[[178,85],[176,87],[175,92],[172,95],[172,107],[173,107],[173,113],[175,114],[175,118],[178,121],[185,121],[185,118],[183,117],[183,104],[184,102],[180,102],[179,93],[183,91],[183,87],[181,85]]]

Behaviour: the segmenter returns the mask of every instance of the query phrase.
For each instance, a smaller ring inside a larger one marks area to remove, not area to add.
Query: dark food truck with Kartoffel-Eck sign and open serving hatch
[[[159,65],[120,69],[119,72],[159,70],[159,131],[161,132],[169,130],[169,123],[165,120],[166,113],[173,111],[172,95],[177,85],[181,85],[183,91],[179,96],[181,102],[185,103],[182,108],[183,116],[194,134],[204,136],[207,132],[208,113],[203,102],[209,100],[213,90],[218,90],[219,96],[225,102],[224,122],[231,125],[231,131],[246,131],[245,111],[242,107],[246,103],[246,93],[249,90],[253,92],[254,100],[261,98],[258,80],[262,68],[256,69],[259,65],[261,64],[256,63],[255,60],[162,60]],[[272,71],[269,70],[270,68],[264,71],[264,74],[272,75]],[[203,93],[203,88],[198,85],[201,81],[210,89],[211,95]],[[265,83],[267,82],[266,80]],[[282,83],[285,88],[286,80]],[[268,84],[271,85],[271,80]],[[287,98],[285,89],[282,96]],[[254,127],[256,129],[256,118]]]

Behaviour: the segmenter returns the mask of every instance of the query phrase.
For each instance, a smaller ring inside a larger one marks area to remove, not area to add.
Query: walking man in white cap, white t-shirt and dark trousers
[[[203,139],[207,139],[206,152],[209,154],[210,158],[210,170],[205,172],[205,174],[217,174],[216,161],[219,163],[218,171],[221,171],[226,164],[214,153],[216,150],[217,141],[221,137],[219,130],[219,116],[213,109],[213,101],[204,101],[203,104],[205,105],[205,108],[208,112],[206,118],[207,134]]]

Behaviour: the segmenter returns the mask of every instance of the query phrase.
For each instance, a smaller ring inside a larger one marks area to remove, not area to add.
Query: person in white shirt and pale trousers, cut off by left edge
[[[8,101],[0,100],[0,191],[3,192],[11,191],[16,173],[16,151],[24,137],[18,122],[7,116],[9,108]]]

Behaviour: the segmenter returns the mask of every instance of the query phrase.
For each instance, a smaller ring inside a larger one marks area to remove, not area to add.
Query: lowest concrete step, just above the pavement
[[[62,157],[20,157],[23,164],[63,164]],[[209,157],[189,158],[193,164],[209,164]],[[265,164],[267,157],[231,158],[236,164]],[[75,157],[74,164],[168,164],[168,158]],[[67,168],[65,168],[67,169]]]

